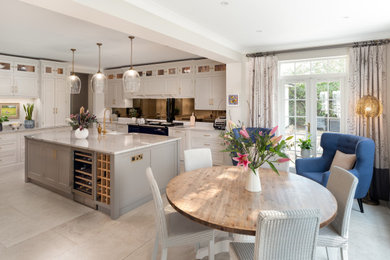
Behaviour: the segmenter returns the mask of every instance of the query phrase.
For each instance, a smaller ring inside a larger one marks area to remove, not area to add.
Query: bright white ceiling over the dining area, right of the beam
[[[123,1],[241,53],[390,37],[389,0]]]

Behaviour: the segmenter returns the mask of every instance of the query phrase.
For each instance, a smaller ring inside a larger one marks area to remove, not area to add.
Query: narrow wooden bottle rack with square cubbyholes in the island
[[[110,205],[111,195],[111,161],[110,155],[97,154],[96,200]]]

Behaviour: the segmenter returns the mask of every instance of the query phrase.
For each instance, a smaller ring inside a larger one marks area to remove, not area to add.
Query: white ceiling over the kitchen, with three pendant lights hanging
[[[102,42],[102,67],[130,63],[128,35],[15,0],[1,0],[0,53],[71,61],[95,68],[97,42]],[[133,63],[151,63],[198,56],[164,45],[134,39]]]

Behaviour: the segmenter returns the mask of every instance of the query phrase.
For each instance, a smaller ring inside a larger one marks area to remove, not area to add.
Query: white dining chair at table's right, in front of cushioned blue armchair
[[[340,167],[330,169],[329,181],[326,186],[337,200],[337,215],[330,225],[320,230],[318,246],[340,248],[341,259],[348,259],[348,232],[351,218],[353,198],[359,180],[352,173]]]

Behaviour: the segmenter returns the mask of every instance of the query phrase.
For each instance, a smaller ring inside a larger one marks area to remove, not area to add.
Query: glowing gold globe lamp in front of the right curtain
[[[380,116],[383,112],[383,106],[379,99],[374,96],[363,96],[356,104],[356,114],[366,118],[366,135],[368,138],[370,134],[370,118]]]

